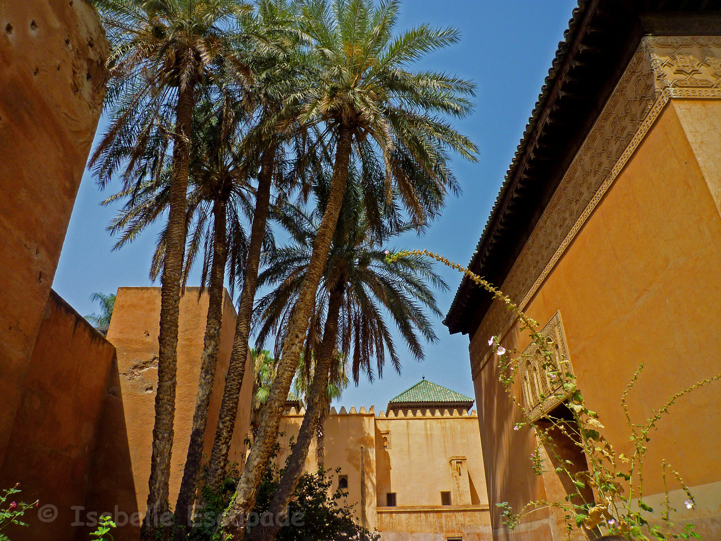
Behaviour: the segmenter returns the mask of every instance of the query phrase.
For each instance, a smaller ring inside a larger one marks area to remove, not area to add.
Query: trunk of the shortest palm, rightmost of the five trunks
[[[288,507],[291,501],[293,491],[296,490],[298,480],[303,475],[303,470],[308,458],[308,449],[316,430],[317,421],[321,410],[324,409],[325,400],[323,395],[327,392],[328,376],[330,365],[333,361],[333,351],[335,351],[336,338],[338,334],[338,315],[340,314],[340,305],[343,300],[342,284],[330,294],[328,302],[328,315],[325,320],[325,328],[323,330],[323,341],[320,346],[319,356],[316,362],[313,374],[313,382],[308,392],[310,401],[306,415],[304,415],[301,430],[298,431],[298,439],[293,452],[286,464],[286,471],[283,478],[280,479],[278,490],[275,491],[273,501],[270,503],[270,513],[272,516],[278,516]],[[271,526],[263,526],[259,524],[253,528],[248,536],[248,541],[273,541],[278,535],[280,525],[274,520]]]

